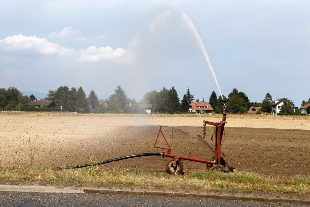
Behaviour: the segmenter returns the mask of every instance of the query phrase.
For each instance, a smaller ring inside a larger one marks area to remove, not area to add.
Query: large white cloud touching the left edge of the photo
[[[61,56],[74,54],[75,51],[61,47],[57,43],[48,42],[45,38],[36,36],[14,35],[0,40],[0,50],[7,52],[34,52],[46,55],[59,54]]]

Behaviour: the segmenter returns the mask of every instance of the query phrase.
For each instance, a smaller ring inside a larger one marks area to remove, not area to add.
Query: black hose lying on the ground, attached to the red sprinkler
[[[65,166],[65,167],[55,167],[53,169],[62,170],[62,169],[84,168],[84,167],[88,167],[88,166],[94,166],[94,165],[105,164],[105,163],[109,163],[109,162],[115,162],[118,160],[125,160],[128,158],[153,156],[153,155],[162,156],[162,157],[165,156],[164,153],[160,153],[160,152],[141,153],[141,154],[127,155],[124,157],[114,158],[111,160],[104,160],[101,162],[94,162],[94,163],[89,163],[89,164],[80,164],[80,165],[73,165],[73,166]]]

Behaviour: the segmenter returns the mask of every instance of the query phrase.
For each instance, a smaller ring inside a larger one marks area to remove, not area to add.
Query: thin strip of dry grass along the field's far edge
[[[23,115],[23,116],[116,116],[116,117],[211,117],[221,118],[222,114],[23,114],[23,113],[0,113],[0,115]],[[306,120],[310,121],[309,115],[257,115],[257,114],[228,114],[230,119],[282,119],[282,120]]]

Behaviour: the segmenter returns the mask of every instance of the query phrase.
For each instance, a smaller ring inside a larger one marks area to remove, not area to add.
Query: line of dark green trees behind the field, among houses
[[[30,100],[35,99],[33,94],[30,97],[27,95],[23,96],[16,87],[0,88],[0,110],[38,110],[34,106],[27,106]],[[152,104],[152,112],[176,113],[177,111],[188,111],[189,104],[195,100],[195,97],[190,93],[190,89],[187,88],[180,101],[174,86],[170,89],[162,87],[159,91],[153,90],[145,93],[143,99],[138,103],[135,99],[129,99],[124,89],[121,86],[117,86],[110,97],[99,101],[94,90],[91,90],[89,95],[86,96],[81,86],[78,89],[60,86],[55,90],[49,90],[45,99],[55,102],[55,108],[49,108],[49,110],[59,110],[60,106],[62,106],[64,110],[78,113],[145,113],[145,108],[139,106],[139,104]],[[223,99],[226,99],[224,95]],[[239,92],[237,88],[234,88],[229,93],[227,99],[229,113],[246,113],[251,106],[261,106],[257,113],[272,112],[272,106],[270,105],[272,103],[272,96],[270,93],[266,93],[266,96],[260,103],[250,102],[244,92]],[[88,100],[92,102],[94,109],[89,110]],[[222,96],[217,96],[215,91],[212,91],[208,103],[215,113],[222,113],[223,104],[221,100]],[[196,99],[196,101],[200,100]],[[201,101],[205,101],[204,97],[201,98]],[[310,98],[308,101],[303,100],[302,106],[308,103],[310,103]],[[127,106],[126,104],[131,104],[131,106]],[[44,104],[40,108],[41,110],[47,110],[47,106],[44,106]],[[298,115],[301,113],[299,109],[296,109],[294,112],[294,108],[294,102],[285,99],[281,108],[281,114]]]

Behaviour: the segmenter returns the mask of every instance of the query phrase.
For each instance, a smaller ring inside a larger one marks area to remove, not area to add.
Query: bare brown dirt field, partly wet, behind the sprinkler
[[[220,117],[220,116],[219,116]],[[65,166],[87,163],[90,157],[103,161],[145,152],[153,148],[159,126],[173,126],[172,154],[210,159],[214,155],[212,126],[207,117],[98,116],[98,115],[8,115],[0,114],[0,161],[4,166],[23,162],[22,140],[26,131],[40,146],[35,166]],[[226,119],[221,151],[236,170],[275,174],[280,177],[310,172],[310,121],[275,119]],[[31,128],[31,129],[30,129]],[[165,136],[170,136],[166,130]],[[24,138],[23,138],[24,136]],[[158,141],[157,146],[164,146]],[[148,156],[105,164],[100,168],[165,171],[171,158]],[[184,172],[205,169],[206,164],[184,161]]]

